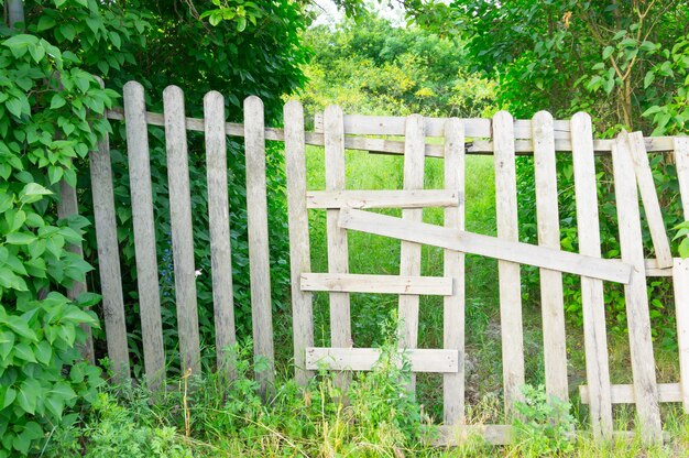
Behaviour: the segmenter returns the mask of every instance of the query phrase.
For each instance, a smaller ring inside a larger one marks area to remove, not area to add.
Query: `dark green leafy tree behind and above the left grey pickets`
[[[188,116],[203,117],[203,97],[214,89],[226,97],[228,120],[242,120],[242,101],[249,95],[260,96],[266,109],[266,123],[278,120],[283,95],[299,88],[305,77],[300,66],[308,53],[299,32],[308,22],[303,2],[276,0],[250,1],[188,1],[134,0],[99,2],[97,0],[25,2],[26,31],[40,40],[55,43],[67,56],[79,61],[79,69],[101,75],[106,85],[120,92],[122,85],[135,79],[146,88],[146,102],[152,111],[161,111],[162,90],[171,84],[185,90]],[[200,14],[199,14],[200,12]],[[211,22],[209,25],[208,21]],[[193,45],[190,45],[193,44]],[[114,92],[108,92],[114,94]],[[69,110],[70,99],[56,97],[53,107]],[[11,101],[14,108],[17,102]],[[103,100],[96,95],[84,102],[92,103],[102,112]],[[107,106],[110,108],[110,103]],[[72,122],[69,119],[67,123]],[[63,122],[63,121],[61,121]],[[102,121],[98,121],[102,122]],[[107,123],[103,123],[107,126]],[[117,219],[125,294],[129,344],[134,355],[136,374],[141,370],[141,325],[136,295],[134,246],[131,237],[129,173],[122,123],[111,133],[111,157],[114,175]],[[67,129],[72,130],[67,124]],[[68,133],[69,133],[68,132]],[[163,301],[163,323],[167,360],[176,368],[178,362],[175,292],[167,196],[167,166],[162,129],[150,131],[153,200],[156,208],[155,227],[157,258]],[[236,318],[240,335],[251,335],[249,316],[249,265],[247,242],[247,212],[241,142],[230,141],[228,149],[231,238]],[[86,152],[86,150],[84,150]],[[199,323],[203,341],[214,342],[210,253],[208,248],[208,211],[206,203],[206,162],[203,135],[189,134],[189,173],[193,192],[196,264],[201,271],[197,288]],[[288,268],[286,257],[287,231],[285,209],[285,178],[282,154],[274,145],[267,148],[269,223],[275,310],[287,308]],[[80,199],[80,212],[92,219],[88,198],[90,187],[88,163],[75,159],[81,167],[79,188],[87,198]],[[85,173],[86,172],[86,173]],[[72,183],[77,179],[74,170],[66,172]],[[59,179],[59,171],[51,172]],[[96,240],[92,231],[86,235],[86,259],[97,265]],[[89,284],[98,288],[97,275]],[[285,334],[288,329],[285,329]],[[96,338],[101,337],[96,334]],[[97,350],[98,350],[97,346]],[[212,351],[204,352],[212,360]]]

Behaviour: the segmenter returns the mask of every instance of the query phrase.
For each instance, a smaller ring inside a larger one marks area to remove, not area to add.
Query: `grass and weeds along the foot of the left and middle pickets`
[[[251,342],[236,348],[238,377],[179,379],[156,396],[131,386],[102,393],[81,424],[63,426],[45,456],[398,456],[422,448],[422,410],[406,393],[408,364],[390,342],[381,362],[347,392],[319,375],[302,389],[280,379],[269,403],[258,394]],[[260,363],[259,363],[260,364]],[[372,401],[372,402],[371,402]],[[187,429],[188,427],[188,429]]]

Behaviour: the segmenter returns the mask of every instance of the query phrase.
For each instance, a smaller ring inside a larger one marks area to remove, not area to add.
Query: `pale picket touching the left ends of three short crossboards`
[[[306,145],[302,103],[296,100],[287,102],[284,108],[284,118],[294,370],[297,383],[306,385],[314,374],[306,369],[306,348],[314,346],[314,309],[311,293],[302,291],[299,287],[299,276],[311,270],[308,211],[306,209]]]

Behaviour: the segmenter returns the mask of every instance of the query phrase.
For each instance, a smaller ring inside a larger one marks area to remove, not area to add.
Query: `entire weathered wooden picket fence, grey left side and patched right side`
[[[521,264],[540,269],[544,320],[544,356],[548,394],[567,400],[567,352],[562,272],[581,276],[587,384],[579,386],[589,404],[598,437],[613,435],[612,405],[635,403],[643,435],[648,443],[661,439],[659,403],[682,402],[689,410],[689,261],[674,259],[654,187],[647,152],[672,151],[677,164],[685,218],[689,219],[689,139],[646,138],[623,133],[614,140],[595,140],[591,119],[578,113],[571,120],[554,120],[547,112],[532,120],[514,120],[500,112],[492,119],[438,119],[413,115],[406,118],[344,116],[329,107],[316,118],[314,132],[305,131],[299,102],[284,108],[284,130],[265,128],[263,105],[256,97],[244,101],[244,123],[225,122],[222,96],[211,91],[204,98],[204,119],[185,117],[179,88],[165,89],[164,113],[146,111],[138,83],[124,86],[124,110],[108,117],[127,126],[132,216],[138,271],[143,358],[149,386],[164,380],[161,302],[158,293],[155,232],[151,197],[147,126],[164,126],[169,178],[173,258],[179,349],[183,372],[199,371],[199,331],[192,237],[189,174],[186,131],[206,137],[212,297],[216,347],[236,341],[229,243],[226,137],[244,137],[247,211],[251,276],[251,308],[254,353],[273,361],[273,329],[266,216],[265,140],[284,141],[294,319],[295,377],[306,383],[313,371],[326,366],[339,371],[346,385],[351,370],[369,370],[379,351],[356,348],[349,294],[354,292],[400,295],[403,329],[400,348],[409,358],[413,372],[438,372],[444,378],[442,444],[462,440],[477,432],[501,444],[510,440],[508,425],[466,425],[464,418],[464,253],[499,260],[500,316],[503,349],[504,403],[506,417],[521,399],[525,382],[521,302]],[[373,135],[378,135],[374,138]],[[384,135],[403,135],[403,141]],[[442,144],[426,138],[440,137]],[[306,145],[325,146],[326,189],[306,186]],[[120,378],[130,377],[124,306],[112,194],[108,141],[90,155],[96,235],[103,294],[108,355]],[[400,154],[404,161],[402,190],[348,190],[344,188],[346,149]],[[579,253],[560,249],[556,151],[569,152],[573,163],[578,215]],[[464,231],[466,154],[492,154],[495,166],[497,237]],[[538,246],[518,242],[515,154],[533,154],[538,225]],[[612,154],[620,242],[619,260],[601,258],[594,154]],[[426,157],[444,157],[445,188],[424,189]],[[243,184],[239,184],[243,185]],[[653,238],[655,259],[645,259],[638,194]],[[445,208],[445,226],[422,221],[425,207]],[[309,209],[327,210],[328,272],[310,269]],[[395,218],[365,211],[370,208],[402,208]],[[365,231],[401,240],[400,275],[348,273],[347,233]],[[420,247],[444,249],[444,276],[420,276]],[[656,381],[647,276],[672,276],[679,337],[680,381]],[[611,384],[606,346],[603,282],[624,285],[634,383]],[[325,291],[330,298],[331,348],[314,346],[311,293]],[[444,297],[444,348],[417,349],[419,295]],[[218,367],[231,378],[233,368],[218,351]],[[267,390],[273,371],[258,374]],[[414,383],[409,386],[414,390]]]

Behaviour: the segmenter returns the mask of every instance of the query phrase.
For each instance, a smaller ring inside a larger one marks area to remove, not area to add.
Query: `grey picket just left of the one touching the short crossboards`
[[[256,373],[262,394],[266,394],[270,390],[269,385],[275,381],[264,132],[263,101],[255,96],[247,97],[244,99],[244,154],[253,351],[256,358],[264,358],[269,366],[266,370]]]

